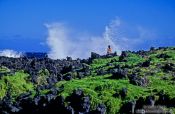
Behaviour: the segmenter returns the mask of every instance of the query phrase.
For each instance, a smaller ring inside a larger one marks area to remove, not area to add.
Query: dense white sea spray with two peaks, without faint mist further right
[[[49,57],[62,59],[67,56],[75,58],[88,58],[91,52],[106,54],[108,45],[113,51],[120,53],[120,47],[115,44],[115,29],[120,26],[120,20],[113,20],[105,27],[101,36],[70,35],[71,31],[63,23],[45,24],[48,28],[47,45],[50,48]]]

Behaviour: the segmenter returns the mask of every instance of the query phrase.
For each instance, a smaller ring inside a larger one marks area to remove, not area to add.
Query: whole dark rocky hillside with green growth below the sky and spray
[[[89,59],[0,57],[0,114],[175,113],[175,47]]]

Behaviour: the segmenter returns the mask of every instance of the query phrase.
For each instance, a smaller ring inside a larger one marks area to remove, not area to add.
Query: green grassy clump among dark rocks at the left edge
[[[0,80],[0,99],[6,96],[7,91],[13,99],[22,93],[34,91],[34,86],[27,80],[28,74],[16,72],[13,76],[4,76]]]

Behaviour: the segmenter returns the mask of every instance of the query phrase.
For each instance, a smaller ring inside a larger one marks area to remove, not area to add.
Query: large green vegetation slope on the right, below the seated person
[[[69,96],[73,90],[82,89],[86,95],[91,98],[91,109],[95,109],[100,103],[103,103],[107,107],[108,114],[115,114],[119,111],[122,104],[137,100],[139,97],[146,98],[149,95],[155,95],[161,91],[170,96],[175,97],[175,86],[172,83],[172,72],[164,72],[161,67],[157,67],[159,64],[164,66],[166,63],[175,64],[175,51],[172,48],[166,51],[154,50],[147,52],[144,57],[138,54],[127,52],[128,56],[125,57],[126,62],[119,62],[119,57],[107,58],[107,59],[94,59],[91,66],[93,72],[92,76],[78,80],[61,81],[56,84],[57,87],[64,86],[64,91],[59,95],[63,97]],[[158,58],[160,54],[168,55],[167,59]],[[139,64],[150,60],[149,67],[140,67]],[[107,64],[111,63],[111,66]],[[104,76],[96,76],[96,70],[114,68],[115,65],[120,67],[128,66],[128,74],[137,72],[139,76],[147,76],[149,84],[146,87],[136,86],[130,84],[128,79],[112,79],[111,74]],[[168,80],[163,80],[164,76],[168,77]],[[127,97],[122,99],[120,96],[115,97],[115,93],[118,93],[122,88],[127,88]],[[174,111],[174,108],[173,108]]]

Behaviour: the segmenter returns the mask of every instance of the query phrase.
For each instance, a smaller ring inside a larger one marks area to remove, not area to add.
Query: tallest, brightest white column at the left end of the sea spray
[[[49,57],[53,59],[64,58],[68,54],[69,46],[67,30],[62,23],[46,24],[48,28],[47,44],[50,47]],[[65,45],[66,44],[66,45]],[[65,48],[64,48],[65,47]],[[65,50],[66,49],[66,50]]]

